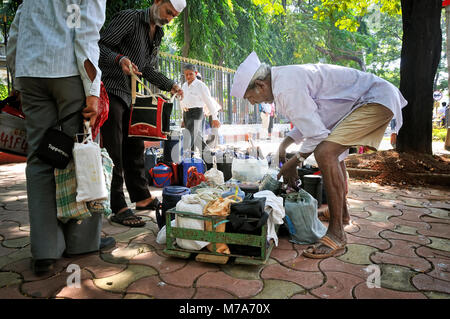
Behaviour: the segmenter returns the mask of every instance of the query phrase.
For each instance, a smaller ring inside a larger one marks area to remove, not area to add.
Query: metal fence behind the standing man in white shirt
[[[235,73],[234,70],[164,52],[159,54],[158,69],[169,79],[182,84],[185,82],[183,66],[188,63],[196,66],[198,72],[202,75],[202,81],[210,89],[211,96],[221,106],[222,109],[219,111],[219,120],[221,123],[258,123],[259,116],[257,107],[255,105],[251,105],[244,99],[235,98],[230,95],[233,75]],[[154,92],[158,92],[156,87],[152,85],[150,86]],[[180,123],[182,119],[182,111],[177,99],[175,99],[174,106],[171,120],[172,122]]]

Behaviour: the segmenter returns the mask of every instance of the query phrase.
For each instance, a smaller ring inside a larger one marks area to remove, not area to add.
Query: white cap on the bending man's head
[[[258,55],[255,52],[250,53],[234,74],[233,86],[231,87],[232,96],[244,97],[245,91],[247,91],[248,85],[260,65],[261,62],[259,61]]]

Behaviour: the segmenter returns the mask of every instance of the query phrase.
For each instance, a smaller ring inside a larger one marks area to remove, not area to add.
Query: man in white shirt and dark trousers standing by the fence
[[[220,122],[217,117],[218,110],[213,103],[209,88],[205,83],[196,78],[195,66],[186,64],[183,67],[183,72],[186,79],[186,82],[181,87],[184,92],[181,108],[183,109],[183,122],[186,129],[183,134],[183,147],[185,152],[194,152],[195,147],[197,147],[202,154],[203,107],[206,105],[209,114],[212,116],[213,128],[220,127]]]

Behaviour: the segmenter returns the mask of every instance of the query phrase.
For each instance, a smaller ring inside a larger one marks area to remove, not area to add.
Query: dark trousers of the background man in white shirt
[[[202,153],[204,144],[203,132],[203,109],[192,108],[187,112],[183,112],[183,122],[185,131],[183,132],[183,149],[194,151],[195,147]]]

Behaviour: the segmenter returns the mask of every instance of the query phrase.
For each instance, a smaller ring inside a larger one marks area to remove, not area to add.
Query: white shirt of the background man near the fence
[[[206,105],[208,108],[208,112],[206,113],[211,114],[213,120],[218,120],[217,113],[219,110],[215,106],[211,92],[205,83],[199,79],[195,79],[190,85],[184,82],[181,89],[184,93],[184,98],[181,100],[182,108],[190,109],[200,107],[203,109],[204,105]]]

